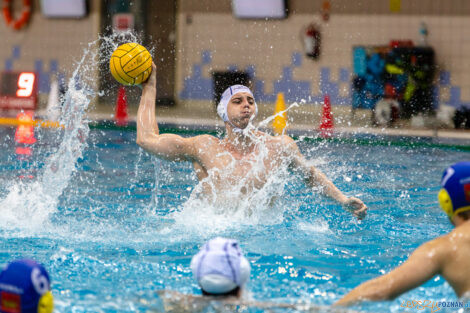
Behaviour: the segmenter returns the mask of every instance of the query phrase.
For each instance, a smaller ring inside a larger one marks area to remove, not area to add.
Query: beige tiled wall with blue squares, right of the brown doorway
[[[449,1],[449,5],[452,1]],[[461,2],[459,2],[461,3]],[[461,5],[466,5],[461,3]],[[304,56],[302,29],[318,25],[322,49],[317,61]],[[284,20],[239,20],[230,12],[180,12],[178,16],[177,93],[181,99],[212,99],[211,71],[237,68],[253,74],[258,99],[271,102],[279,91],[288,101],[350,105],[352,47],[387,45],[390,40],[420,42],[421,22],[436,51],[438,101],[470,102],[470,27],[468,15],[291,14]]]

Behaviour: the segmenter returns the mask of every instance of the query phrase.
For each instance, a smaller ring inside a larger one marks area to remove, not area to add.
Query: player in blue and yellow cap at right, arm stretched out
[[[356,287],[336,302],[389,300],[435,275],[442,275],[459,297],[470,292],[470,162],[456,163],[444,172],[439,204],[455,226],[449,234],[424,243],[390,273]]]

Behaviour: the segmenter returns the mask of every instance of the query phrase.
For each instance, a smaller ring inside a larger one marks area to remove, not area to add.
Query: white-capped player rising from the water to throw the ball
[[[255,129],[251,121],[257,105],[250,89],[235,85],[222,94],[217,112],[225,122],[223,139],[210,135],[181,137],[160,134],[155,117],[156,67],[143,85],[137,113],[137,144],[157,157],[193,163],[200,181],[205,180],[207,197],[227,197],[230,192],[243,196],[260,190],[270,175],[285,166],[305,178],[310,187],[320,187],[358,218],[363,218],[367,207],[354,197],[346,197],[314,166],[309,165],[289,136],[270,136]],[[233,202],[233,200],[232,200]]]

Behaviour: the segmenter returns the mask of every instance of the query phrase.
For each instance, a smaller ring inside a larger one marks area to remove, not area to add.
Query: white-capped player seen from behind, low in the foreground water
[[[236,312],[243,306],[256,309],[298,309],[296,304],[259,302],[243,296],[251,266],[234,239],[217,237],[206,242],[191,259],[193,276],[201,295],[159,290],[165,312]],[[306,308],[306,304],[301,304]],[[210,309],[209,309],[210,308]],[[318,309],[318,308],[317,308]],[[264,312],[264,311],[263,311]]]

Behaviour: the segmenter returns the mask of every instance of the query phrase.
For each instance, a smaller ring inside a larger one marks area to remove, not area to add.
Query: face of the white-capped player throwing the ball
[[[248,126],[253,114],[255,114],[255,99],[248,92],[236,93],[228,102],[228,118],[239,128]]]

